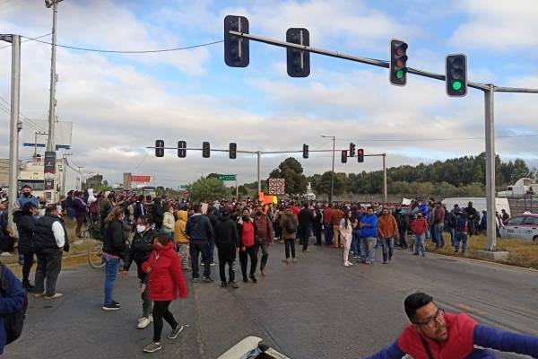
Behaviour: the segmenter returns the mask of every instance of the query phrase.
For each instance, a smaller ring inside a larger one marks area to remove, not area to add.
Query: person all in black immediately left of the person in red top
[[[215,228],[215,244],[219,250],[219,272],[221,274],[221,287],[230,285],[239,288],[235,282],[235,262],[239,250],[238,227],[230,219],[230,212],[224,210]],[[226,265],[228,265],[229,282],[226,282]]]

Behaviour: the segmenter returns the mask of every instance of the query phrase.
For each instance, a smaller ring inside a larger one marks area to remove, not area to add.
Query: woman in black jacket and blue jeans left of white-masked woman
[[[124,258],[127,250],[126,234],[123,228],[125,211],[121,206],[114,207],[105,220],[105,240],[103,241],[103,258],[105,259],[105,302],[103,311],[117,311],[120,308],[112,293],[116,281],[119,259]]]

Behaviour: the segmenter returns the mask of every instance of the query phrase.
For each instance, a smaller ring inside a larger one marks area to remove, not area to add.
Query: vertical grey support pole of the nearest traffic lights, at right
[[[494,91],[490,84],[489,90],[484,91],[485,100],[485,130],[486,130],[486,206],[488,211],[488,247],[486,250],[497,250],[497,232],[495,216],[495,125],[494,125]]]

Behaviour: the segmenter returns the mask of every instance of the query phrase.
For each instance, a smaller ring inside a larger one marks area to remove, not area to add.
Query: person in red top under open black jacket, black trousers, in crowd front
[[[243,215],[238,222],[239,233],[239,262],[241,263],[241,274],[243,282],[248,283],[248,278],[257,283],[256,266],[257,266],[257,228],[256,223],[250,218],[250,210],[247,206],[243,207]],[[250,257],[250,272],[247,278],[248,257]]]

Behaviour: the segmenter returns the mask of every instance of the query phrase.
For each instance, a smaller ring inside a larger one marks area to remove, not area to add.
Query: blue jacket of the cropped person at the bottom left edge
[[[13,275],[13,272],[7,266],[4,266],[4,279],[8,289],[0,297],[0,355],[4,353],[7,337],[4,328],[4,316],[19,311],[26,296],[21,281]]]

